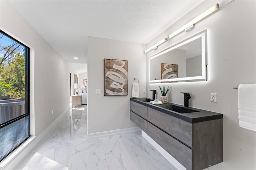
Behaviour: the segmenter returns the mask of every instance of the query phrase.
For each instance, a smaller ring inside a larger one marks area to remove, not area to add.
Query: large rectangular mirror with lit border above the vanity
[[[207,81],[207,30],[148,59],[149,83]]]

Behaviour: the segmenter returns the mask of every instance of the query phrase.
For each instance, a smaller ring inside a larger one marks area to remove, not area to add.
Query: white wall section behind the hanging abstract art
[[[145,45],[88,38],[88,133],[136,127],[130,121],[132,80],[139,79],[140,97],[146,89]],[[104,96],[104,58],[128,60],[128,95]],[[101,89],[101,95],[95,90]]]

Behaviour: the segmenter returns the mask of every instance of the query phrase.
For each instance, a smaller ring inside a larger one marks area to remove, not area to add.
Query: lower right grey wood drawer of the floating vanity
[[[156,141],[166,152],[172,155],[187,170],[192,170],[192,149],[182,144],[172,136],[148,123],[148,136]]]

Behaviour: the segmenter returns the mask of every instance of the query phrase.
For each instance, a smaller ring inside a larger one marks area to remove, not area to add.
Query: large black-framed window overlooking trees
[[[0,30],[0,161],[30,137],[30,48]]]

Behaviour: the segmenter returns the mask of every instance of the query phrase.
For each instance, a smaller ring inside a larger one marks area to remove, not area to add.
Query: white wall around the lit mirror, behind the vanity
[[[164,83],[172,86],[168,101],[183,105],[180,92],[190,92],[190,107],[222,113],[224,162],[209,167],[209,170],[255,170],[256,132],[238,125],[237,89],[232,87],[242,83],[256,83],[256,1],[234,0],[225,6],[224,1],[205,1],[170,28],[147,44],[167,37],[215,3],[220,9],[195,24],[190,32],[160,45],[153,55],[176,42],[184,40],[208,28],[208,81]],[[159,83],[148,84],[147,89],[157,89]],[[218,93],[218,102],[210,102],[210,93]],[[254,94],[255,95],[255,94]],[[148,93],[148,97],[151,93]]]

